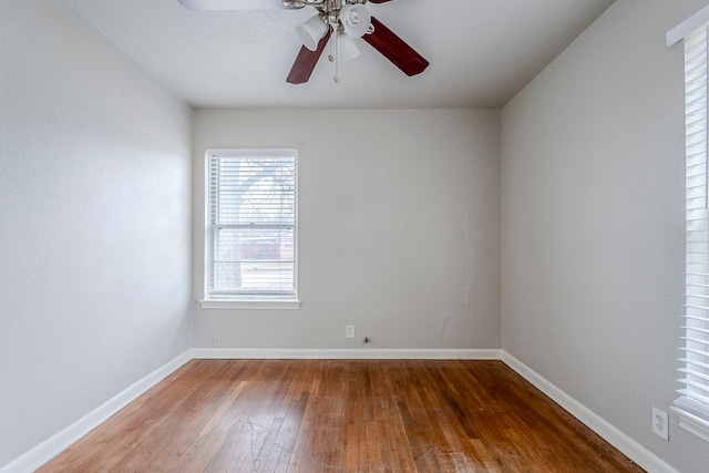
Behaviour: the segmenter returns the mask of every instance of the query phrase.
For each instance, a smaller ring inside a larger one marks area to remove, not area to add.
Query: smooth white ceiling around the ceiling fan
[[[614,0],[393,0],[369,11],[431,65],[408,78],[357,40],[362,55],[320,58],[286,83],[302,10],[191,11],[177,0],[65,0],[169,91],[195,107],[501,107]],[[268,0],[264,0],[268,2]]]

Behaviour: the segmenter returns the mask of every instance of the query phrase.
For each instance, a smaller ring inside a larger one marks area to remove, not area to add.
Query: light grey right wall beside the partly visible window
[[[617,0],[502,113],[503,348],[681,472],[682,47],[701,1]]]

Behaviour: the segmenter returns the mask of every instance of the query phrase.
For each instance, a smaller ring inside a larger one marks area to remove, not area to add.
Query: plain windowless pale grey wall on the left
[[[62,1],[0,31],[1,467],[189,348],[192,112]]]

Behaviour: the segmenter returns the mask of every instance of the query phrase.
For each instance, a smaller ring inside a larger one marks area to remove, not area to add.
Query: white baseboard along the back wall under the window
[[[194,348],[196,359],[281,360],[500,360],[499,349],[260,349]]]

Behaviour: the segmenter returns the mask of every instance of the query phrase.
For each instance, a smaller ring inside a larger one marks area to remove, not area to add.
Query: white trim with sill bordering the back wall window
[[[208,230],[209,230],[209,156],[215,155],[228,155],[228,154],[263,154],[263,155],[273,155],[273,154],[294,154],[296,156],[296,226],[295,226],[295,241],[294,241],[294,253],[295,253],[295,288],[296,295],[294,298],[284,297],[282,299],[279,297],[266,298],[263,296],[244,296],[239,299],[233,298],[207,298],[207,286],[208,286],[208,276],[207,276],[207,266],[209,260],[208,255]],[[204,207],[205,207],[205,218],[204,218],[204,264],[203,264],[203,295],[204,297],[197,300],[199,308],[202,309],[243,309],[243,310],[298,310],[300,309],[300,299],[298,297],[298,150],[296,148],[207,148],[205,151],[205,192],[204,192]]]

